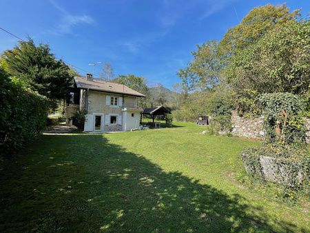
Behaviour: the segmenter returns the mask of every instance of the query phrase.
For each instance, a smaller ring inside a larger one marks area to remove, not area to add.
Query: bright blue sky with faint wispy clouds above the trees
[[[0,28],[27,40],[49,43],[52,53],[78,68],[111,63],[115,74],[134,74],[171,88],[176,72],[192,59],[196,44],[220,40],[256,6],[285,1],[254,0],[2,0]],[[310,12],[310,1],[287,0]],[[18,39],[0,30],[0,52]],[[83,75],[83,70],[77,69]]]

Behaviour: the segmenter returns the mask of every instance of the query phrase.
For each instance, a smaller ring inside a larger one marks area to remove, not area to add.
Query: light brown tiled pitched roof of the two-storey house
[[[134,97],[145,97],[144,94],[136,92],[135,90],[132,90],[131,88],[128,88],[123,84],[111,83],[96,79],[94,79],[93,81],[87,81],[86,78],[83,77],[74,77],[74,81],[76,83],[77,88],[96,90],[99,92],[125,94]]]

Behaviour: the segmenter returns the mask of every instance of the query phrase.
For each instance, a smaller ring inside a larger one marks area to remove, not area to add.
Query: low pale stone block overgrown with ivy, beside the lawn
[[[309,193],[310,154],[306,149],[269,144],[247,148],[241,156],[254,179],[279,183],[283,193]]]

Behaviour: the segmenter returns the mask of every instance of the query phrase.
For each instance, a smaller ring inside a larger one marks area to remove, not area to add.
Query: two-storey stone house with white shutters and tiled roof
[[[67,125],[76,110],[87,110],[85,132],[130,131],[139,127],[140,112],[136,106],[138,97],[144,94],[125,85],[93,79],[92,74],[74,77],[67,101]]]

